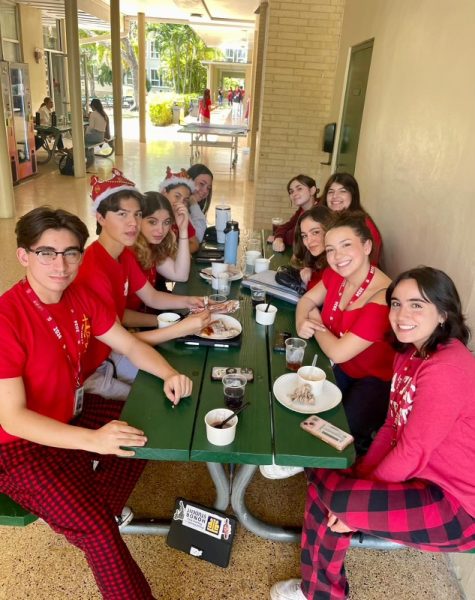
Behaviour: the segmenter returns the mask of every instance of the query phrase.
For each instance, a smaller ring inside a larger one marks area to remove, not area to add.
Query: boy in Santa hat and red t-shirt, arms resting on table
[[[201,331],[210,320],[209,312],[204,310],[203,298],[178,296],[155,290],[130,249],[137,239],[142,219],[142,196],[135,184],[126,179],[118,169],[113,169],[113,177],[107,181],[92,177],[91,184],[91,197],[96,212],[99,238],[85,252],[78,282],[97,294],[111,313],[116,315],[124,325],[155,327],[151,331],[134,334],[148,344],[155,346]],[[191,315],[170,327],[157,329],[157,317],[154,314],[128,310],[125,315],[129,293],[137,294],[145,306],[153,309],[203,308],[203,312]],[[95,373],[96,369],[109,358],[109,354],[110,349],[107,346],[92,340],[84,362],[86,377]],[[111,355],[110,360],[114,363],[119,380],[126,385],[133,381],[137,370],[128,360],[124,360],[117,354]],[[103,375],[106,375],[108,370],[110,364],[101,367]],[[89,391],[98,389],[96,376],[93,379],[94,382],[91,380],[87,382],[86,389]],[[108,397],[114,396],[114,392],[111,395],[104,390],[102,383],[99,385],[101,393]]]

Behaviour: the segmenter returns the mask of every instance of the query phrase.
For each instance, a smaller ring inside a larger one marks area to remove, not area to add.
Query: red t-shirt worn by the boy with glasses
[[[27,297],[21,282],[0,297],[0,379],[21,377],[27,407],[37,413],[68,423],[73,417],[75,376],[62,348],[66,343],[73,364],[78,341],[71,309],[81,325],[85,346],[109,331],[115,322],[100,300],[82,286],[71,284],[57,304],[44,304],[58,325],[58,340],[40,312]],[[84,356],[84,354],[83,354]],[[84,368],[80,380],[84,380]],[[0,444],[18,439],[0,427]]]

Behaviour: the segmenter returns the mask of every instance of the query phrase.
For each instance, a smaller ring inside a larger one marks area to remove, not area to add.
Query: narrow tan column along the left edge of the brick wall
[[[251,151],[249,153],[249,181],[254,181],[254,176],[256,172],[256,142],[257,132],[259,130],[259,123],[261,119],[262,87],[264,76],[264,50],[267,37],[268,8],[269,4],[265,0],[261,2],[259,6],[258,34],[255,38],[257,39],[257,50],[256,45],[254,45],[253,63],[255,63],[255,76],[254,89],[252,90],[251,96],[251,137],[249,142]]]

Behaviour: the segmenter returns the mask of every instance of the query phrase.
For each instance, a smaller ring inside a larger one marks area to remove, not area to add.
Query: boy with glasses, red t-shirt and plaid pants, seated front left
[[[192,382],[74,282],[88,237],[78,217],[37,208],[16,234],[26,277],[0,297],[0,492],[85,553],[104,598],[152,599],[114,518],[145,466],[119,457],[147,440],[118,420],[121,402],[84,394],[82,360],[98,337],[162,378],[174,404]]]

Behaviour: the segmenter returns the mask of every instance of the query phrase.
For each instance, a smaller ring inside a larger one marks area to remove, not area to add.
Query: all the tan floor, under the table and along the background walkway
[[[126,123],[131,139],[119,168],[134,179],[141,190],[156,189],[167,165],[189,164],[188,139],[168,130],[147,145],[135,141],[136,122]],[[215,174],[213,202],[232,206],[233,217],[243,227],[252,227],[252,185],[245,179],[247,154],[240,152],[236,172],[229,171],[227,150],[208,150],[203,157]],[[125,166],[124,166],[125,165]],[[55,169],[42,173],[15,190],[17,217],[41,204],[63,207],[80,215],[94,238],[86,180],[64,177]],[[213,208],[210,211],[213,217]],[[0,293],[22,274],[15,258],[14,220],[0,220],[2,268]],[[151,463],[130,504],[138,515],[167,518],[176,496],[212,505],[212,484],[201,464]],[[286,481],[267,481],[256,475],[248,491],[248,504],[255,514],[272,522],[301,522],[305,495],[302,475]],[[275,581],[298,576],[299,548],[261,540],[239,529],[227,569],[200,562],[169,549],[156,536],[127,536],[139,565],[162,600],[264,600]],[[95,600],[99,593],[81,553],[55,535],[43,523],[26,528],[0,527],[0,600]],[[376,552],[351,550],[347,570],[352,600],[457,600],[457,583],[442,555],[412,550]],[[127,600],[124,598],[124,600]]]

